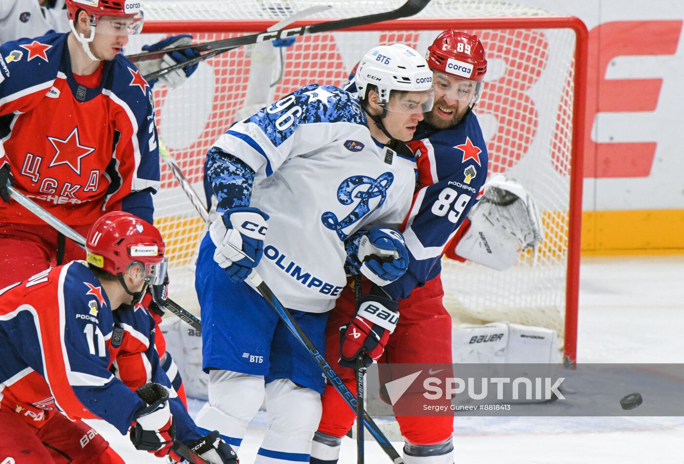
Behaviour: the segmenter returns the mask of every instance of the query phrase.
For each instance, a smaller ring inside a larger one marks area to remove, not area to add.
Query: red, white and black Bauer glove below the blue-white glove
[[[390,334],[399,322],[399,303],[391,298],[367,295],[361,300],[358,314],[340,327],[340,366],[356,367],[356,357],[365,349],[364,366],[384,353]]]

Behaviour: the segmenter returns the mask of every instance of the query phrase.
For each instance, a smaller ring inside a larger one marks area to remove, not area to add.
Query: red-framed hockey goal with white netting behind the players
[[[388,11],[403,1],[326,1],[332,8],[305,23]],[[135,38],[129,53],[172,33],[192,33],[196,42],[206,42],[263,31],[317,4],[148,0],[144,30],[152,33]],[[308,83],[343,85],[371,46],[402,42],[422,52],[448,28],[476,33],[484,44],[488,72],[475,111],[488,142],[489,172],[506,174],[529,189],[546,233],[534,256],[525,252],[505,272],[445,258],[445,305],[456,324],[505,320],[555,329],[565,338],[566,357],[574,360],[583,122],[577,102],[586,64],[586,29],[576,18],[500,1],[432,0],[417,17],[298,38],[281,49],[272,100]],[[233,123],[246,98],[251,48],[207,59],[176,90],[155,88],[159,137],[202,196],[207,149]],[[155,207],[172,265],[171,295],[196,311],[193,265],[205,225],[166,166]]]

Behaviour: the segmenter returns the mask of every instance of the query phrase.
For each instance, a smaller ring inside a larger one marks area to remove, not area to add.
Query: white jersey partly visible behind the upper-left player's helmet
[[[41,7],[38,0],[0,0],[0,44],[69,30],[64,0],[55,0],[53,8]]]

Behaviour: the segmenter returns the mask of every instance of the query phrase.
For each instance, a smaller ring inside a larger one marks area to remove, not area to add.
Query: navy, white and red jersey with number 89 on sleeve
[[[408,146],[417,158],[418,189],[402,230],[410,253],[408,271],[383,287],[395,299],[407,298],[440,273],[440,258],[467,223],[487,178],[487,148],[472,111],[449,129],[421,122]]]

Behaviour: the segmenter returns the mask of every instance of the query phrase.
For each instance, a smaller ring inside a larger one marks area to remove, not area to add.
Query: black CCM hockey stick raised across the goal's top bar
[[[188,46],[177,46],[172,49],[164,49],[162,51],[150,52],[150,53],[137,53],[135,55],[127,56],[133,63],[146,61],[148,59],[157,59],[166,55],[166,53],[173,53],[174,51],[184,51],[186,49],[195,49],[198,51],[225,53],[238,46],[257,44],[259,42],[271,42],[277,39],[286,39],[291,37],[304,36],[310,33],[320,33],[335,31],[338,29],[347,29],[348,27],[363,26],[373,23],[381,23],[382,21],[391,21],[397,18],[404,18],[406,16],[413,16],[425,8],[426,5],[430,3],[430,0],[408,0],[404,5],[400,6],[396,10],[389,12],[382,12],[376,14],[367,14],[365,16],[357,16],[356,18],[343,18],[336,21],[326,21],[325,23],[316,23],[308,26],[290,27],[284,29],[278,29],[276,31],[263,31],[260,33],[249,34],[247,36],[233,37],[223,40],[215,40],[213,42],[205,42],[203,44],[194,44]],[[193,64],[199,63],[204,59],[207,59],[213,55],[206,53],[205,55],[195,57],[187,60],[187,62],[176,63],[168,68],[159,70],[157,72],[152,72],[145,76],[145,79],[152,80],[158,77],[168,74],[179,68],[184,68],[185,66],[191,66]]]

